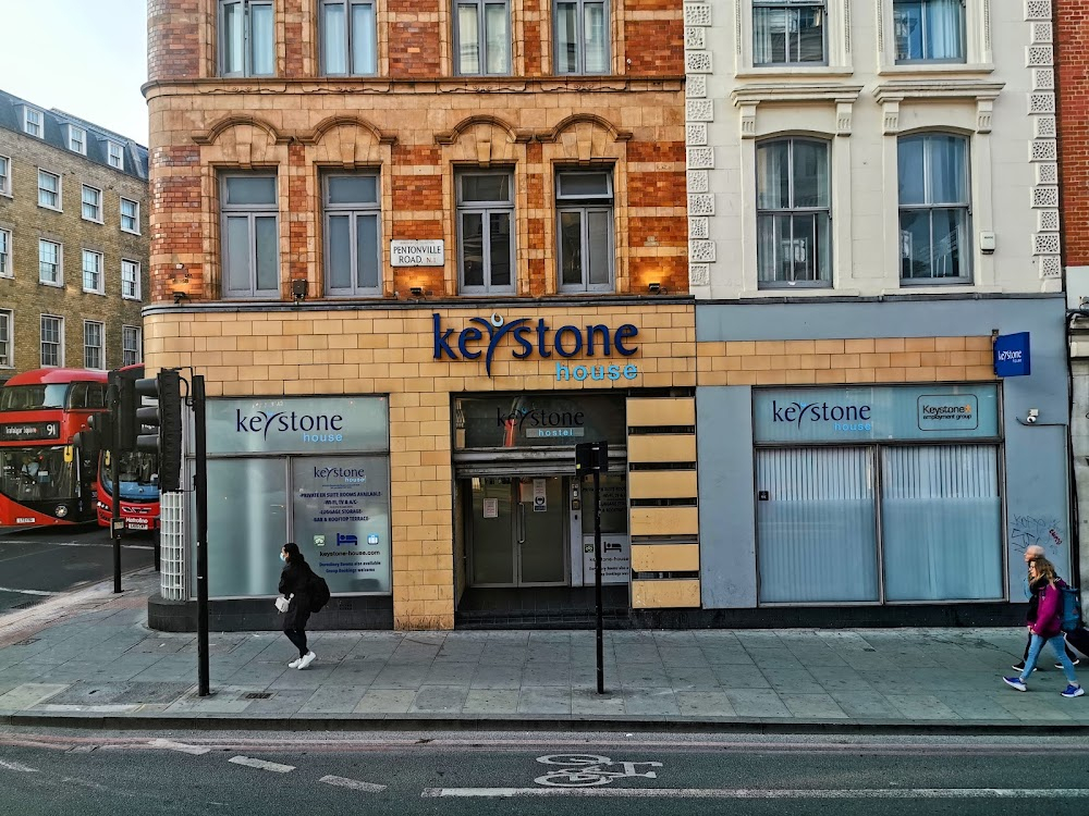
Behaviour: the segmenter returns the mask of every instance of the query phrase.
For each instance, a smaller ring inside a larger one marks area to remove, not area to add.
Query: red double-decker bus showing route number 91
[[[98,452],[76,434],[106,410],[107,373],[38,369],[0,387],[0,527],[72,524],[95,518]]]

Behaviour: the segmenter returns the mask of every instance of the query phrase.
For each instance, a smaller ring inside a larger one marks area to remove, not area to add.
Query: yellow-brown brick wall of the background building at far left
[[[47,123],[49,126],[49,123]],[[88,134],[88,138],[94,138]],[[40,319],[64,319],[63,363],[84,366],[84,326],[105,324],[107,369],[122,366],[122,326],[142,326],[140,300],[121,296],[121,261],[140,264],[140,292],[148,287],[148,201],[143,178],[103,166],[41,139],[0,127],[0,156],[11,160],[11,194],[0,194],[0,230],[11,232],[11,277],[0,276],[0,309],[13,313],[14,358],[0,380],[41,366]],[[61,211],[38,206],[38,170],[61,178]],[[101,191],[102,222],[82,217],[83,185]],[[121,198],[139,205],[139,234],[121,228]],[[63,285],[39,283],[38,240],[61,244]],[[83,250],[103,256],[103,293],[83,288]]]

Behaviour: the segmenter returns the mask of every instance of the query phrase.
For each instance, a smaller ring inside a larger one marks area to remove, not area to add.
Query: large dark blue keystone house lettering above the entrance
[[[441,360],[443,356],[451,360],[476,360],[484,356],[485,371],[491,376],[491,362],[499,348],[500,341],[506,335],[511,335],[517,348],[511,351],[511,356],[518,360],[525,360],[533,355],[541,358],[556,357],[571,358],[576,355],[587,357],[611,357],[614,353],[622,357],[634,355],[638,347],[631,344],[639,330],[631,323],[624,323],[613,330],[607,325],[588,325],[585,329],[575,325],[563,325],[554,330],[548,324],[544,318],[539,318],[536,323],[530,318],[518,318],[507,322],[499,314],[490,318],[470,318],[473,325],[455,332],[453,329],[442,327],[442,316],[435,313],[431,316],[435,327],[435,359]],[[479,329],[477,326],[480,326]],[[556,363],[556,379],[561,379],[560,369],[565,366]],[[588,372],[585,367],[583,376],[575,379],[585,380]],[[598,367],[603,368],[603,367]],[[623,371],[616,368],[616,376],[609,375],[615,380],[620,375],[625,379],[634,379],[637,373],[635,366],[625,366]],[[567,372],[570,379],[571,372]],[[602,374],[604,376],[604,374]],[[590,379],[602,379],[591,376]]]

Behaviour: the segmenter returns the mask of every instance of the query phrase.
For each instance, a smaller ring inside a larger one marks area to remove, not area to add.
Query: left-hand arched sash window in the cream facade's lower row
[[[757,277],[761,288],[831,286],[829,145],[763,141],[756,151]]]

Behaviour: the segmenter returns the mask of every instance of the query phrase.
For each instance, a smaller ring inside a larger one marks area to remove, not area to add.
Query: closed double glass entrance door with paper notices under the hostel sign
[[[469,480],[473,585],[566,585],[570,523],[564,482],[563,477]]]

